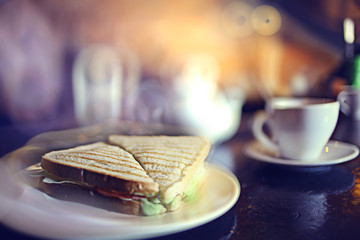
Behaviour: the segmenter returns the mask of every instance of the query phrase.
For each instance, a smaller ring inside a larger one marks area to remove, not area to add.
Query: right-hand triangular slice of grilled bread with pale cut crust
[[[176,210],[196,172],[200,172],[210,142],[198,136],[111,135],[109,142],[131,153],[159,184],[162,203]]]

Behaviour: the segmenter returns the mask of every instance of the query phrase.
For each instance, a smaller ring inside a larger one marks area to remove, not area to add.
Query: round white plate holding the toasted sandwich
[[[0,173],[1,174],[1,173]],[[227,212],[240,195],[240,184],[231,172],[206,165],[199,197],[180,210],[158,216],[118,214],[87,205],[57,200],[22,185],[22,193],[0,191],[0,217],[19,231],[45,238],[136,239],[162,236],[205,224]],[[13,188],[12,188],[13,189]],[[5,208],[5,209],[4,209]]]

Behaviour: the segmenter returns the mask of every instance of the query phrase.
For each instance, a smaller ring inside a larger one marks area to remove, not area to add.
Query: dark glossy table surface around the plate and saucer
[[[360,157],[303,171],[262,163],[244,154],[253,139],[252,114],[244,114],[238,133],[216,146],[213,159],[234,172],[241,184],[235,206],[205,225],[157,239],[350,239],[360,236]],[[0,134],[1,153],[30,136]],[[15,131],[15,130],[14,130]],[[360,145],[360,122],[341,116],[332,139]],[[5,144],[7,142],[7,144]],[[231,156],[226,162],[221,154]],[[0,225],[6,239],[35,239]]]

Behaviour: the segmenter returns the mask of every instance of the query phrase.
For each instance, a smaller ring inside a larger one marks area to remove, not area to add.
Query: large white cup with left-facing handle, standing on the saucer
[[[331,99],[274,98],[255,116],[253,134],[280,157],[316,160],[333,133],[340,104]],[[263,127],[268,123],[270,138]]]

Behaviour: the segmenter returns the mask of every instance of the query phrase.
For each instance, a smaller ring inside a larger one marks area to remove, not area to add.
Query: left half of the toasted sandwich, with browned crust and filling
[[[118,146],[98,142],[53,151],[42,157],[41,167],[40,190],[56,198],[132,215],[166,211],[157,202],[158,183]]]

